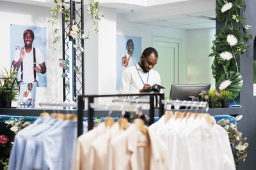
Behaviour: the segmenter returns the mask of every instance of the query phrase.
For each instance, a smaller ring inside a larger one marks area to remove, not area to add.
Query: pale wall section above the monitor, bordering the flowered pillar
[[[211,88],[215,87],[211,70],[214,58],[208,57],[214,34],[215,29],[188,31],[188,83],[211,83]]]

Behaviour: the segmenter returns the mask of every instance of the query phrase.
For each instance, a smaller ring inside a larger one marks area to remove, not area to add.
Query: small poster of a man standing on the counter
[[[20,83],[18,108],[35,108],[36,82]]]

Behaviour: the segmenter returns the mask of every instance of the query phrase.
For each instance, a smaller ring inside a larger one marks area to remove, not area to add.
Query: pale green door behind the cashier
[[[158,52],[158,60],[154,69],[161,76],[164,96],[170,96],[172,84],[179,83],[180,42],[168,38],[153,38],[153,47]]]

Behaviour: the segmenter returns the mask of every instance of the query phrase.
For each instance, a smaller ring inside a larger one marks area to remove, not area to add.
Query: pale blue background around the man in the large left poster
[[[36,27],[36,26],[28,26],[28,25],[15,25],[11,24],[11,57],[10,57],[10,66],[12,66],[13,55],[15,50],[19,47],[24,46],[23,32],[26,29],[31,29],[34,32],[34,40],[33,47],[36,47],[42,52],[44,57],[45,66],[47,67],[47,51],[46,51],[46,27]],[[39,68],[40,66],[37,65]],[[38,73],[38,87],[46,87],[47,86],[47,71],[45,74]]]

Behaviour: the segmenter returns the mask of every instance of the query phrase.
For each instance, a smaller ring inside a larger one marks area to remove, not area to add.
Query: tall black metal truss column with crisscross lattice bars
[[[70,47],[68,46],[70,41],[73,45],[76,45],[76,40],[71,36],[68,36],[68,32],[70,32],[71,27],[74,24],[74,20],[76,21],[77,27],[80,27],[81,30],[84,29],[84,4],[83,0],[70,0],[62,2],[65,3],[65,6],[63,6],[64,10],[66,8],[68,11],[70,11],[71,20],[69,23],[62,22],[63,60],[68,59],[70,56],[70,50],[72,50],[73,66],[76,66],[77,70],[80,72],[77,74],[76,71],[74,71],[74,67],[69,68],[69,77],[63,78],[63,101],[76,101],[76,96],[84,95],[84,53],[81,52],[79,48],[74,48],[74,46],[71,46],[70,49],[68,48]],[[62,15],[62,20],[64,20],[64,15]],[[81,46],[84,48],[84,41],[81,36],[77,36],[77,38],[79,38],[81,41]],[[65,70],[63,69],[63,72],[64,71]],[[70,76],[72,76],[72,78],[70,78]],[[72,88],[70,88],[70,85]],[[70,92],[70,90],[72,90],[72,92]]]

